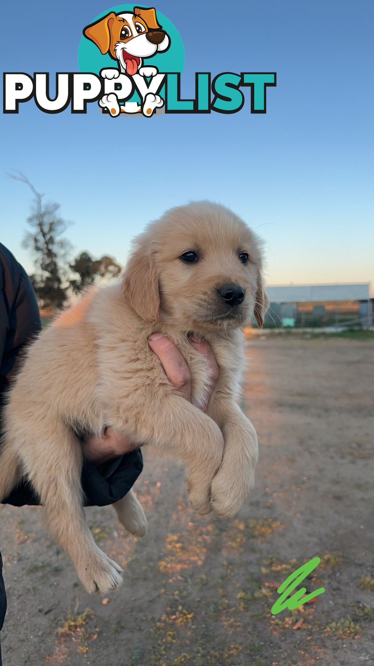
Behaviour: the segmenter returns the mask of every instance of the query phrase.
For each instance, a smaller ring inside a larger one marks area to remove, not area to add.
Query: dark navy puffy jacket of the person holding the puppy
[[[31,280],[13,254],[0,243],[0,409],[11,376],[17,372],[23,348],[40,330],[41,318]],[[100,468],[85,462],[82,486],[86,505],[104,506],[120,500],[132,488],[142,468],[140,450],[115,458]],[[39,498],[25,481],[13,489],[3,503],[39,504]]]

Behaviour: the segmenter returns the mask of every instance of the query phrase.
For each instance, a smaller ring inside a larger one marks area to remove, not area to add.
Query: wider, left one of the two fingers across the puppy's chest
[[[188,370],[188,365],[174,342],[160,333],[154,333],[149,336],[148,344],[152,352],[160,359],[170,384],[186,400],[191,400],[190,370]]]

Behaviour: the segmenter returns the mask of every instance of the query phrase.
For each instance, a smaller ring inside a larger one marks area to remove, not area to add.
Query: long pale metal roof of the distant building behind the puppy
[[[369,282],[360,284],[286,284],[267,286],[271,303],[368,300]]]

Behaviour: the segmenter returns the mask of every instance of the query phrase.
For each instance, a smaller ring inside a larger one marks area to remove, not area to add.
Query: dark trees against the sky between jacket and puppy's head
[[[23,238],[23,247],[33,252],[35,272],[30,276],[41,308],[62,308],[69,294],[79,294],[99,278],[115,277],[121,271],[111,256],[98,259],[89,252],[81,252],[69,262],[72,245],[61,235],[67,222],[59,216],[60,204],[44,203],[43,194],[37,192],[29,179],[21,172],[10,174],[29,186],[34,194],[33,211],[27,222],[31,229]]]

